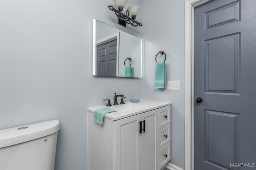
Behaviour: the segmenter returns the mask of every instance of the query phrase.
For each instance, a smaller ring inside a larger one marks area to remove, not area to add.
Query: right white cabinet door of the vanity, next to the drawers
[[[156,170],[157,169],[157,113],[158,110],[148,111],[141,114],[142,121],[142,141],[141,141],[141,169]],[[144,128],[145,127],[145,128]]]

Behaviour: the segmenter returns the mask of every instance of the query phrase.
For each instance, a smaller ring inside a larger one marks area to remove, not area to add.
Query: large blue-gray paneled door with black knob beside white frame
[[[256,0],[213,0],[194,17],[194,169],[256,170]]]

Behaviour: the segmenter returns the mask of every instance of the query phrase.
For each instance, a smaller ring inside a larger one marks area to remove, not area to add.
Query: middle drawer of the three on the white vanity
[[[171,141],[170,130],[170,124],[158,130],[158,149],[162,148],[164,145]]]

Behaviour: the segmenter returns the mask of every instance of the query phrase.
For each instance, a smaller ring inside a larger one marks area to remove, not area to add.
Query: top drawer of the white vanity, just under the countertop
[[[158,129],[168,125],[171,122],[171,106],[165,106],[158,109]]]

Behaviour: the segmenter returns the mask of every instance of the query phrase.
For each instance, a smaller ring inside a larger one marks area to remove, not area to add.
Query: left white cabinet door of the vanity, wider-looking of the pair
[[[115,170],[141,170],[139,122],[140,114],[115,121]]]

